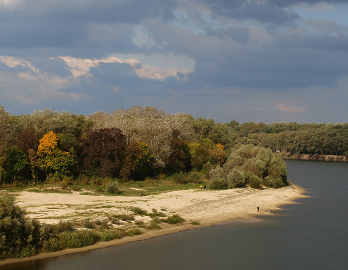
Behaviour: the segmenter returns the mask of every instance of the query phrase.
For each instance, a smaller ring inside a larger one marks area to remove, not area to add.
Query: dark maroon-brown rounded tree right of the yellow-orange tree
[[[120,129],[100,129],[82,140],[81,164],[89,174],[118,177],[126,140]]]

